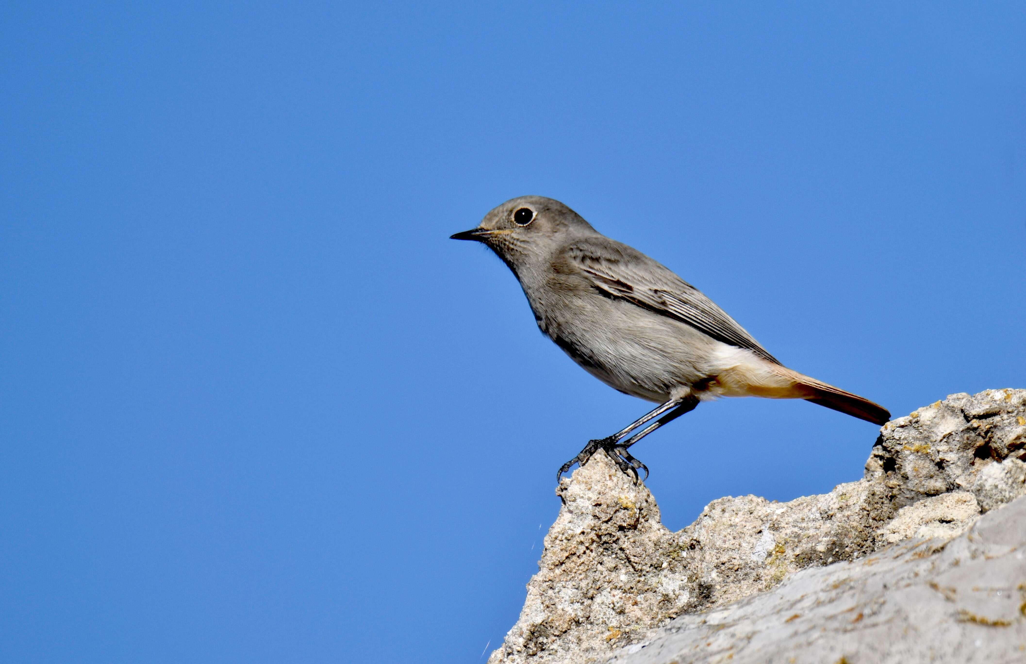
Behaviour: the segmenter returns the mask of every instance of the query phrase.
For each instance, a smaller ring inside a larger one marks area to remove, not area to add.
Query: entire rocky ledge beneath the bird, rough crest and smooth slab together
[[[488,663],[1026,661],[1024,458],[1026,390],[953,394],[885,424],[859,481],[672,533],[596,455]]]

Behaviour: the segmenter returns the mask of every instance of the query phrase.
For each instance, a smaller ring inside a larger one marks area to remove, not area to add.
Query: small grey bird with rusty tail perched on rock
[[[641,251],[608,238],[565,204],[520,196],[477,228],[450,236],[481,242],[516,276],[535,320],[586,372],[659,405],[563,464],[602,451],[639,481],[648,468],[629,448],[702,401],[757,396],[804,399],[883,425],[883,406],[799,374],[770,354],[698,288]]]

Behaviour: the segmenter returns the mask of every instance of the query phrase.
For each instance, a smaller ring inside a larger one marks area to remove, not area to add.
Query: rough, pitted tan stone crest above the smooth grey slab
[[[981,508],[1026,494],[1019,459],[1026,453],[1026,390],[955,394],[880,431],[863,479],[788,503],[721,498],[678,533],[660,522],[643,484],[596,455],[558,487],[563,506],[539,573],[489,664],[603,660],[648,642],[678,616],[698,620],[700,612],[768,597],[802,570],[868,562],[866,556],[908,538],[950,540]]]

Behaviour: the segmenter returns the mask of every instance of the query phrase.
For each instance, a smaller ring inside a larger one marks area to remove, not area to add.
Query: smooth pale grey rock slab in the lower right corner
[[[859,560],[799,572],[727,609],[681,616],[599,661],[1021,663],[1024,550],[1026,498],[954,540],[907,540]]]

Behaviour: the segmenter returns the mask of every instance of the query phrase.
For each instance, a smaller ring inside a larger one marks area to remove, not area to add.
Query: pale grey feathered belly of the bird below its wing
[[[716,347],[694,327],[623,300],[566,302],[539,325],[574,361],[606,385],[655,402],[680,396],[709,377]]]

